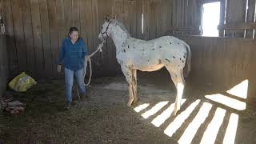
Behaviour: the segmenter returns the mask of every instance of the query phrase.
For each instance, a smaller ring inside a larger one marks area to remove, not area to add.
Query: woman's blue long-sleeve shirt
[[[58,58],[58,64],[62,64],[70,70],[81,70],[84,67],[85,56],[87,54],[86,44],[82,38],[79,38],[74,44],[70,38],[62,41],[62,48]]]

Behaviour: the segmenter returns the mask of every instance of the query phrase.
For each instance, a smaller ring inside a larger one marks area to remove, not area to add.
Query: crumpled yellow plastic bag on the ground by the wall
[[[33,78],[23,72],[9,82],[9,87],[18,92],[25,92],[36,84],[37,82]]]

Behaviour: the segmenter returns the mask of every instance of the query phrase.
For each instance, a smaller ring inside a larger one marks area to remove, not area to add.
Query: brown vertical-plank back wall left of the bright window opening
[[[0,1],[5,11],[10,78],[22,71],[34,78],[58,78],[59,47],[70,26],[80,29],[92,53],[98,46],[98,33],[107,14],[116,16],[133,37],[142,39],[173,33],[179,26],[187,30],[200,25],[198,0]],[[107,42],[103,50],[93,58],[94,76],[118,74],[113,42]]]

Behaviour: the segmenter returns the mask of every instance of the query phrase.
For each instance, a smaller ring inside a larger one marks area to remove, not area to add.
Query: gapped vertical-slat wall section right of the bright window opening
[[[255,38],[255,0],[220,0],[220,36]],[[225,30],[225,34],[224,34]]]

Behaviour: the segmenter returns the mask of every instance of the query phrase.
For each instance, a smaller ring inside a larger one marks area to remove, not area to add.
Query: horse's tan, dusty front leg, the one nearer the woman
[[[132,70],[130,70],[127,66],[122,66],[122,73],[126,77],[126,82],[128,82],[129,101],[127,106],[131,106],[131,104],[134,102]]]

